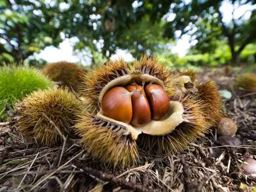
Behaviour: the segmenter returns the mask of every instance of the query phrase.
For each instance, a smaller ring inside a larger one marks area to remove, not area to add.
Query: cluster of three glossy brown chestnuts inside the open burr
[[[169,108],[168,95],[158,84],[114,87],[102,98],[103,115],[134,127],[162,119]]]

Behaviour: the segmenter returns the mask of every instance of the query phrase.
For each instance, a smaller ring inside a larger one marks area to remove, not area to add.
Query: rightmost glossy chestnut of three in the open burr
[[[165,90],[158,84],[147,84],[145,93],[151,106],[152,119],[159,120],[169,111],[169,98]]]

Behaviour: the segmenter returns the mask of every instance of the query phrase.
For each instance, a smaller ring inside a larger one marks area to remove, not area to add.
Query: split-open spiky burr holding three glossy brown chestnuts
[[[137,143],[166,153],[203,136],[210,123],[197,92],[188,76],[174,75],[156,58],[143,56],[133,66],[108,61],[84,76],[87,109],[75,127],[94,158],[124,166],[137,159]]]

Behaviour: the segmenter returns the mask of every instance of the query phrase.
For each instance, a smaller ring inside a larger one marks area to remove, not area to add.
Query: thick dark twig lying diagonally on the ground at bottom
[[[74,167],[77,167],[77,166],[74,166]],[[96,170],[91,167],[83,167],[82,169],[81,168],[78,168],[78,169],[81,170],[84,175],[87,175],[87,176],[93,175],[94,177],[97,177],[98,179],[100,179],[102,181],[107,180],[107,181],[112,182],[113,184],[116,184],[118,186],[124,186],[128,189],[131,189],[132,191],[141,191],[141,192],[158,191],[158,190],[154,190],[154,189],[149,189],[147,187],[144,187],[143,185],[135,184],[133,182],[127,182],[125,179],[117,178],[116,176],[114,176],[112,174],[106,174],[104,172],[101,172],[100,170]]]

